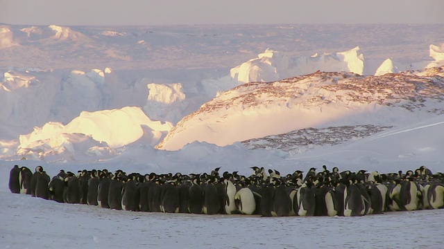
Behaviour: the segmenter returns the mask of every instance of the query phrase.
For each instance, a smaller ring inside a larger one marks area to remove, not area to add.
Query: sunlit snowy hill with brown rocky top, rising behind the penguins
[[[309,127],[406,124],[444,113],[443,100],[443,68],[429,77],[318,72],[251,82],[183,118],[157,148],[176,150],[194,141],[225,146]]]

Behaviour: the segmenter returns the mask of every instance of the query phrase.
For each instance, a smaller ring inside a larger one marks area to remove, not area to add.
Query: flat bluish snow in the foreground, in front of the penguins
[[[0,192],[1,248],[441,248],[443,210],[361,217],[159,214]]]

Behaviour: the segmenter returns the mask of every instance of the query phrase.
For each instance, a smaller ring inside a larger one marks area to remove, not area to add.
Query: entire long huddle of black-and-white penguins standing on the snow
[[[59,203],[82,203],[114,210],[261,216],[362,216],[388,211],[444,208],[444,174],[421,166],[391,174],[332,172],[323,165],[280,176],[277,170],[251,167],[241,176],[219,168],[210,174],[126,174],[117,170],[62,169],[50,178],[42,166],[32,173],[15,165],[12,193],[31,194]]]

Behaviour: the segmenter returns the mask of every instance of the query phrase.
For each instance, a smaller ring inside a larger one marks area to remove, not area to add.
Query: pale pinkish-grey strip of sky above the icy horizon
[[[0,23],[444,24],[444,0],[0,0]]]

